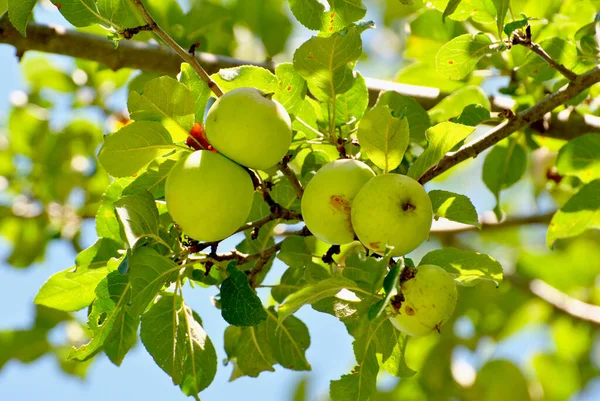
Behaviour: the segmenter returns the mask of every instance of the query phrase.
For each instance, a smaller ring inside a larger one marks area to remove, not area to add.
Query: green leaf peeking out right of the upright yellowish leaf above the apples
[[[406,117],[411,141],[423,142],[425,140],[425,131],[431,126],[431,121],[429,121],[427,111],[415,99],[398,92],[385,91],[379,94],[375,107],[380,105],[387,105],[395,116],[404,115]]]

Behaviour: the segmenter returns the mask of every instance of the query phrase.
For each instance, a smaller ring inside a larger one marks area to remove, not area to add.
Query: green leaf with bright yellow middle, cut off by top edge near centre
[[[361,0],[327,0],[329,10],[318,0],[289,0],[294,17],[308,29],[326,34],[337,32],[367,13]]]

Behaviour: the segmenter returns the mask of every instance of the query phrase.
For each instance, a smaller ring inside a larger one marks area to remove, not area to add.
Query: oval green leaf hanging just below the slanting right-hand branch
[[[485,186],[496,197],[496,216],[501,217],[500,191],[516,184],[526,169],[527,151],[514,138],[500,142],[486,155],[482,178]]]

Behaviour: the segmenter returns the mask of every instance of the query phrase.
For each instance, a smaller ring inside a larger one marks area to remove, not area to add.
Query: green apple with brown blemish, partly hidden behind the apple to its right
[[[302,196],[302,217],[310,232],[333,245],[354,241],[350,206],[373,177],[373,170],[358,160],[336,160],[321,167]]]

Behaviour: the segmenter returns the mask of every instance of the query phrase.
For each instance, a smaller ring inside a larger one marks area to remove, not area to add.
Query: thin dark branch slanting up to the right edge
[[[531,124],[534,121],[540,120],[546,113],[550,113],[556,107],[566,103],[579,95],[585,89],[600,82],[600,67],[594,67],[585,74],[577,76],[577,78],[569,83],[566,87],[557,90],[556,92],[546,96],[540,102],[516,114],[512,118],[502,122],[497,127],[493,128],[487,135],[482,138],[464,145],[456,152],[446,154],[440,162],[427,170],[420,178],[421,184],[432,180],[438,175],[444,173],[458,163],[477,157],[489,147],[507,138],[512,133],[520,130]]]

